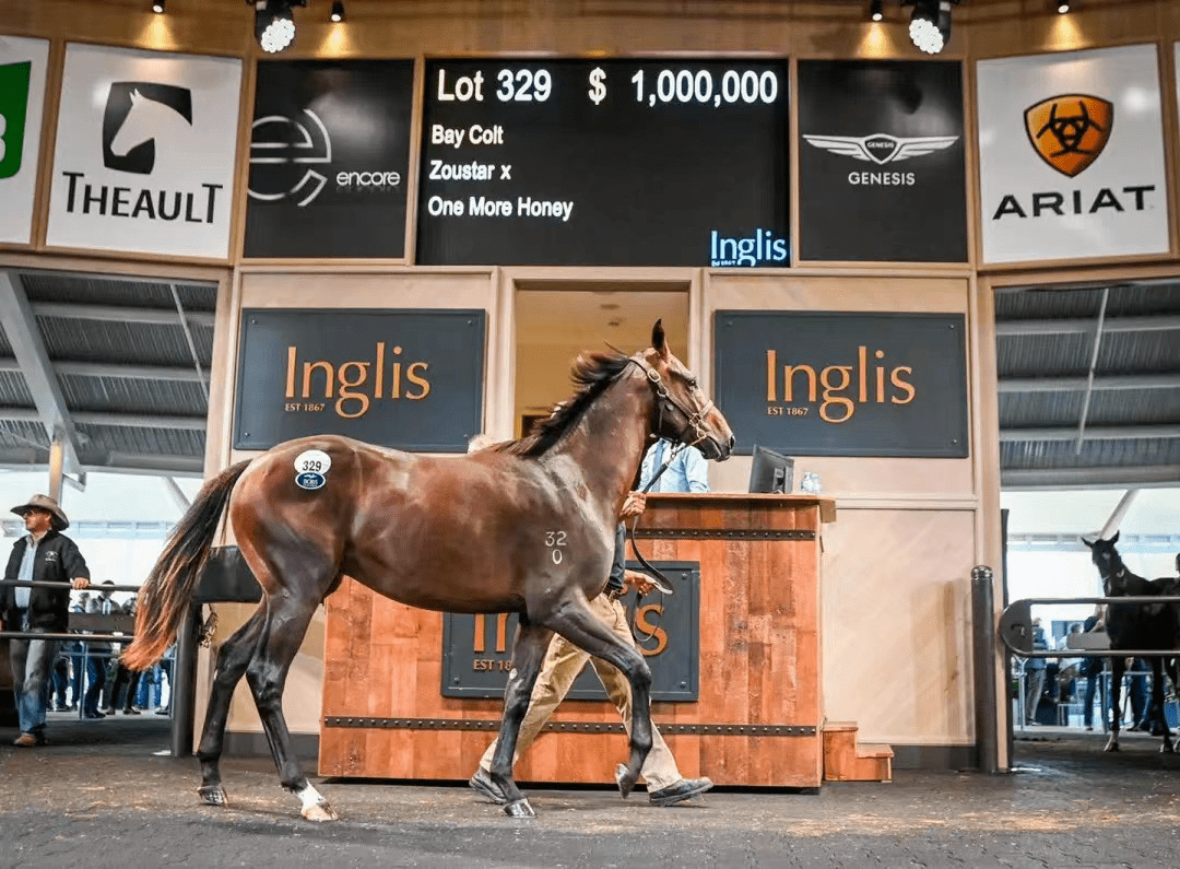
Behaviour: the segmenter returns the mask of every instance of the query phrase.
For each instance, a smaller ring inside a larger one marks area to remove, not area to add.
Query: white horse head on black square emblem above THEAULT
[[[103,113],[103,164],[120,172],[150,175],[156,168],[157,143],[173,146],[191,126],[192,91],[188,87],[112,81]]]

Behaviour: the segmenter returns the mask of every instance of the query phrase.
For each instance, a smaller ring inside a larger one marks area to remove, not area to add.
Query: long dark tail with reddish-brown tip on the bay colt
[[[156,567],[139,589],[135,639],[123,653],[123,664],[129,669],[151,667],[172,645],[197,580],[209,562],[230,492],[249,464],[249,459],[238,462],[205,483],[169,536]]]

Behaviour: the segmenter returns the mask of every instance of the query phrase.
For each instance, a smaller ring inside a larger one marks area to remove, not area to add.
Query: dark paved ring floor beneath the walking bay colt
[[[535,786],[532,821],[464,785],[317,782],[341,819],[312,824],[269,759],[228,759],[231,805],[214,809],[195,759],[156,753],[166,719],[53,719],[44,749],[0,730],[0,867],[1180,865],[1180,756],[1138,734],[1108,754],[1101,734],[1044,728],[1010,775],[902,770],[669,809]]]

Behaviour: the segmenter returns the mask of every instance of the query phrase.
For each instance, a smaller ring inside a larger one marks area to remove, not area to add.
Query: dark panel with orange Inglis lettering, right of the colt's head
[[[735,452],[754,445],[787,456],[968,456],[965,321],[962,314],[828,313],[719,311],[714,320],[715,400],[738,438]],[[784,401],[782,366],[811,365],[817,374],[830,365],[853,366],[851,385],[840,394],[854,401],[859,392],[858,347],[867,347],[868,397],[857,401],[852,418],[827,423],[796,375],[795,397]],[[776,401],[767,401],[768,349],[778,354]],[[877,360],[873,352],[885,358]],[[886,401],[876,403],[876,366],[886,368]],[[906,365],[916,396],[905,405],[889,403],[894,392],[889,371]],[[785,409],[772,417],[768,405]],[[807,409],[787,416],[791,407]]]

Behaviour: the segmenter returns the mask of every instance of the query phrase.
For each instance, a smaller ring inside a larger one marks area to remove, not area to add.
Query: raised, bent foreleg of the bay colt
[[[634,642],[621,640],[589,607],[563,608],[550,626],[575,646],[612,664],[631,684],[631,752],[615,772],[618,790],[627,798],[651,751],[651,669]]]

